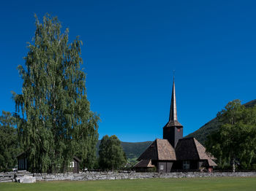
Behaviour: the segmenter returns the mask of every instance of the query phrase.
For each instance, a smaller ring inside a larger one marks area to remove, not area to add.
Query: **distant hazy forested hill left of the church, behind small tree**
[[[138,158],[142,152],[146,150],[146,148],[151,144],[152,141],[145,141],[145,142],[121,142],[121,146],[124,149],[127,158],[133,159]],[[97,152],[99,151],[99,144],[100,140],[97,143]]]

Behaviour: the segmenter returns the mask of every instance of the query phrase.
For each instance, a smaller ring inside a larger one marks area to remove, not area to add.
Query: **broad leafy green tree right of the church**
[[[252,168],[256,157],[256,106],[246,108],[238,100],[230,101],[217,114],[219,129],[211,133],[206,149],[218,158],[219,166],[235,162],[241,168]]]

